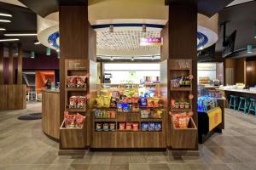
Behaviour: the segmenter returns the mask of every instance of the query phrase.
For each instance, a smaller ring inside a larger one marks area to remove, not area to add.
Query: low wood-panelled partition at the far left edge
[[[0,110],[26,109],[26,85],[0,85]]]

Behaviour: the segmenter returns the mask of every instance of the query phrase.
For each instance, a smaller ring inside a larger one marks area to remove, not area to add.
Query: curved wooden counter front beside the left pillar
[[[60,139],[59,90],[42,90],[42,129],[49,138]]]

